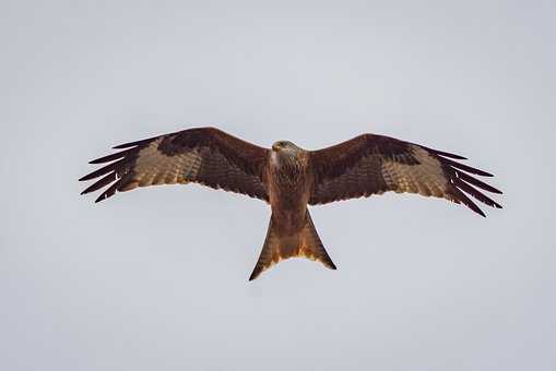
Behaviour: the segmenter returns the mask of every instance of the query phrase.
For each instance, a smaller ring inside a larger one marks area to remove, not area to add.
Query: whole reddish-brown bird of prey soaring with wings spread
[[[501,192],[471,176],[492,175],[457,161],[465,157],[377,134],[306,151],[288,141],[264,148],[215,128],[194,128],[114,148],[122,151],[92,160],[108,164],[80,179],[102,177],[82,192],[107,187],[96,202],[138,187],[196,182],[269,203],[267,238],[249,280],[293,256],[335,270],[308,205],[393,191],[443,198],[482,216],[469,195],[501,208],[483,193]]]

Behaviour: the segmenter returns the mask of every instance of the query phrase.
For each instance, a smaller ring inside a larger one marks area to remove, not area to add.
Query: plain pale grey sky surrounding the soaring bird
[[[555,370],[554,1],[2,1],[0,369]],[[338,271],[247,282],[269,207],[199,185],[95,205],[111,145],[217,125],[463,154],[505,208],[314,207]],[[488,208],[488,210],[487,210]]]

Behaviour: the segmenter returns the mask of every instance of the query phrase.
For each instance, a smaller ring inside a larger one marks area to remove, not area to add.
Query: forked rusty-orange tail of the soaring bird
[[[279,236],[272,220],[273,217],[271,216],[269,230],[267,231],[267,238],[262,246],[261,254],[257,261],[253,272],[249,276],[249,280],[253,280],[262,272],[267,271],[280,261],[294,256],[303,256],[319,261],[331,270],[336,268],[320,241],[309,211],[307,211],[305,226],[295,236]]]

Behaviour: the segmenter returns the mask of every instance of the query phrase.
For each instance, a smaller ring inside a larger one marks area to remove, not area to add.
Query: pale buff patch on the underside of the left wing
[[[163,137],[141,149],[132,169],[133,178],[120,191],[137,187],[187,183],[194,180],[201,166],[201,156],[196,149],[167,156],[158,151]]]

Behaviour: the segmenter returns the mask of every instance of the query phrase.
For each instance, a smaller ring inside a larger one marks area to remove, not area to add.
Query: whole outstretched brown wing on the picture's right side
[[[456,161],[465,157],[393,137],[363,134],[338,145],[310,152],[315,187],[310,204],[324,204],[388,191],[410,192],[463,203],[485,214],[469,199],[501,206],[481,190],[501,193],[470,176],[490,173]]]

